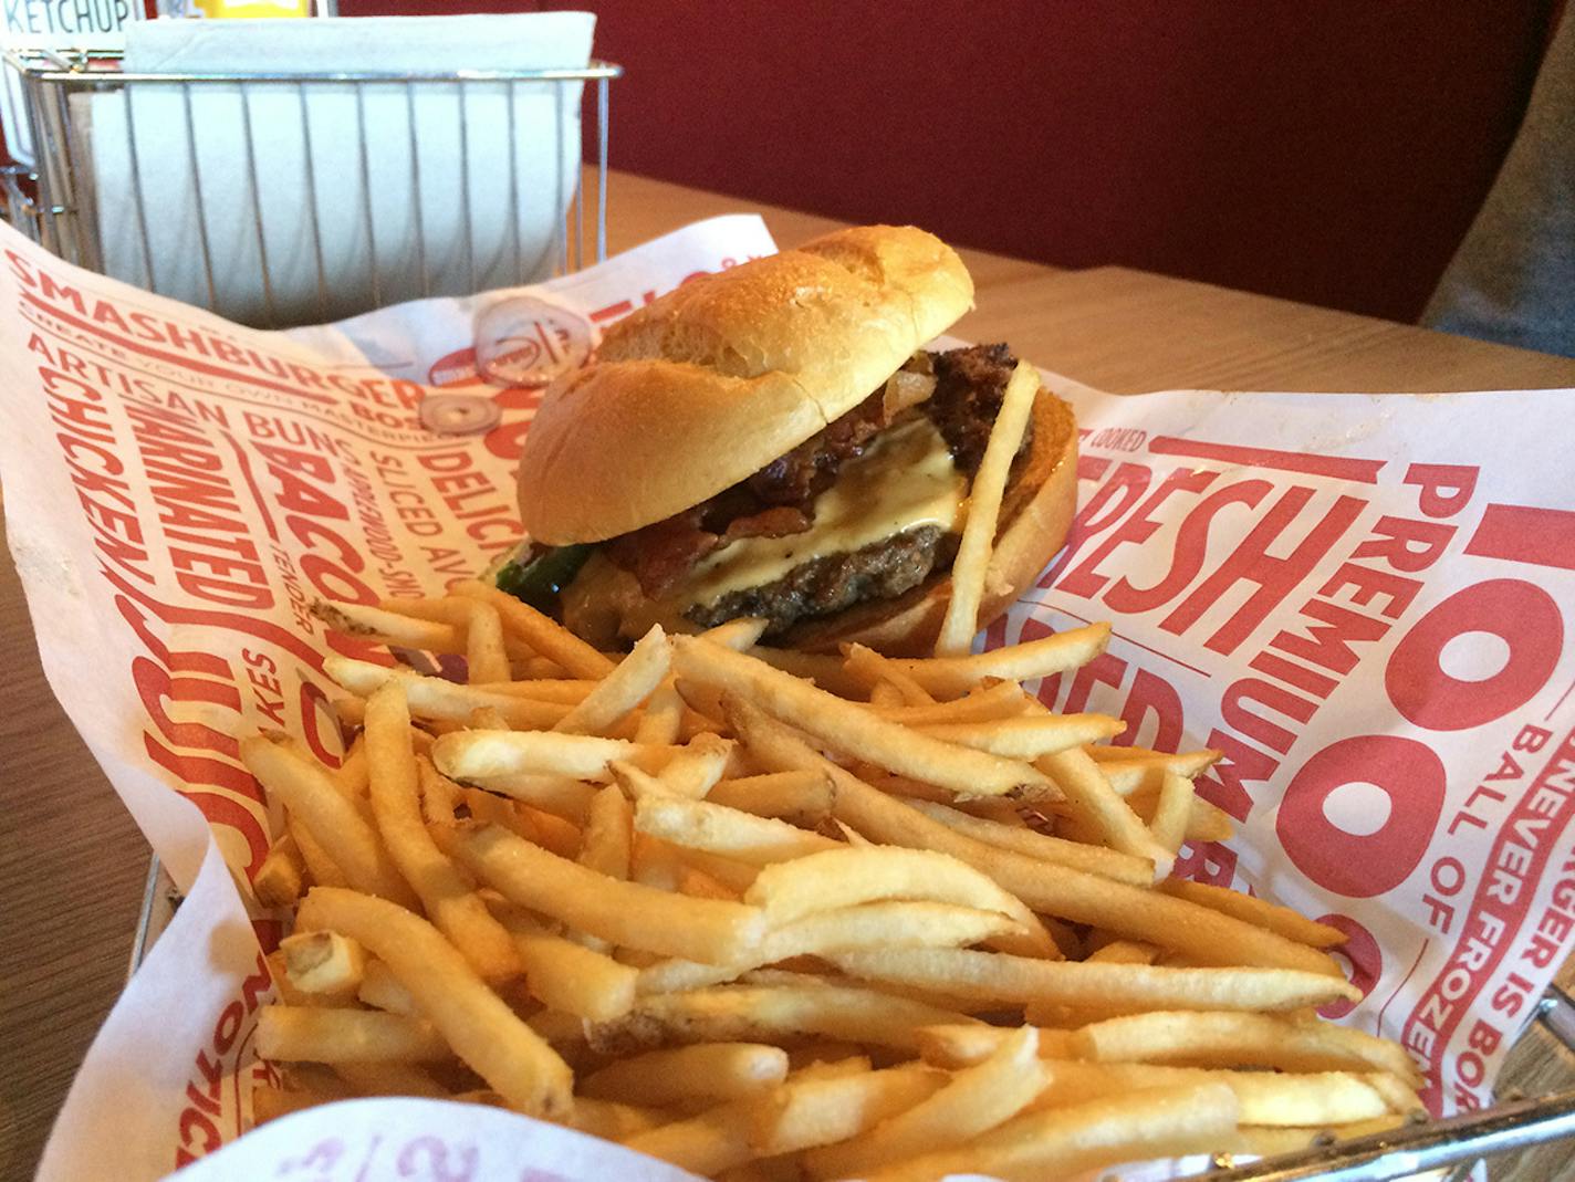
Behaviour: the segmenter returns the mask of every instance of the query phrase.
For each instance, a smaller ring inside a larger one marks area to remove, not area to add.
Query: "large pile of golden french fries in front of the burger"
[[[293,911],[257,1121],[351,1095],[501,1105],[724,1179],[1058,1177],[1277,1152],[1421,1110],[1408,1056],[1315,1009],[1334,929],[1169,878],[1228,834],[1214,752],[1107,746],[983,655],[614,658],[479,582],[323,606],[468,680],[331,658],[337,768],[244,740]]]

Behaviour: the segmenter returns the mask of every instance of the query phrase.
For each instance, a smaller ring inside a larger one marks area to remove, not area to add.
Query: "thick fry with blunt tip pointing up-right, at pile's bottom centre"
[[[882,1124],[805,1158],[811,1177],[857,1177],[885,1162],[932,1154],[972,1141],[1010,1121],[1044,1088],[1040,1036],[1032,1026],[1010,1031],[983,1062],[953,1075],[943,1088]]]

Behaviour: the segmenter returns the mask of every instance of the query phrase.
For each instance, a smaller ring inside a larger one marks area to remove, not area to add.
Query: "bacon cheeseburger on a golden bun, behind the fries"
[[[702,275],[619,321],[545,393],[520,461],[523,549],[498,585],[602,648],[654,623],[762,617],[762,641],[918,653],[1016,359],[929,349],[973,302],[914,227],[862,227]],[[1071,409],[1040,389],[980,623],[1060,549]]]

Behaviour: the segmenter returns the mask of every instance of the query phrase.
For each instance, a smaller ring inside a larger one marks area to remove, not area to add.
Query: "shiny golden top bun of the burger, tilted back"
[[[915,227],[690,280],[543,397],[520,458],[526,532],[603,541],[698,505],[854,409],[972,302],[962,260]]]

